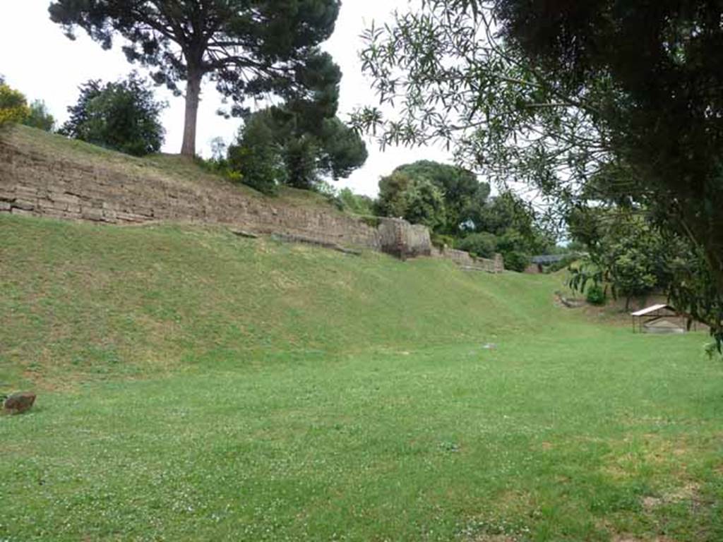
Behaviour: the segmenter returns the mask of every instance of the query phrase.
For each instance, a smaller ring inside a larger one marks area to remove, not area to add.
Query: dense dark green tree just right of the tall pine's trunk
[[[279,184],[318,189],[322,177],[347,177],[367,160],[359,134],[336,117],[341,71],[331,56],[318,56],[304,78],[312,90],[308,98],[247,115],[229,149],[229,162],[244,182],[264,192]]]

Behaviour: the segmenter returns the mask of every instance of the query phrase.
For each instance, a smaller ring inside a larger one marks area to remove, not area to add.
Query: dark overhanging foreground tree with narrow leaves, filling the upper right
[[[701,248],[713,282],[698,291],[719,297],[722,17],[708,0],[429,0],[367,32],[364,71],[401,116],[364,108],[355,123],[384,143],[450,142],[562,206],[594,173],[625,170],[620,194]]]

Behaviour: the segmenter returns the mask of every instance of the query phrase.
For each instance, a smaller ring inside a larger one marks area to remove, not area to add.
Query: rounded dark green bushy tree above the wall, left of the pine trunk
[[[80,98],[68,108],[70,119],[59,133],[142,156],[161,149],[164,131],[158,117],[164,107],[135,73],[105,85],[90,80],[80,87]]]

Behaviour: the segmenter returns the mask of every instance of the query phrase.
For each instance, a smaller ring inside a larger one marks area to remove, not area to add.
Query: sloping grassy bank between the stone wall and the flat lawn
[[[104,374],[521,339],[558,316],[544,280],[361,257],[224,228],[0,215],[7,371],[48,386]],[[568,323],[574,319],[568,319]]]

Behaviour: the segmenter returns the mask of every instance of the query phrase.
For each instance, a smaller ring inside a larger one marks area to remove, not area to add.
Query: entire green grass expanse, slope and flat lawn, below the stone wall
[[[706,336],[559,280],[0,216],[0,541],[723,540]]]

